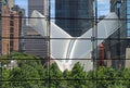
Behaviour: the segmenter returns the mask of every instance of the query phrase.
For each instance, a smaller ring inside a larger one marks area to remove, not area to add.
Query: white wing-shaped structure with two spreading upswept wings
[[[48,29],[46,17],[38,11],[34,11],[31,17],[36,18],[30,20],[29,26],[34,27],[40,35],[46,37]],[[119,27],[120,22],[117,15],[114,12],[109,13],[104,20],[98,23],[98,38],[105,39]],[[80,39],[91,38],[92,29],[94,29],[94,27],[90,28],[82,36],[76,38],[68,35],[53,22],[50,23],[50,38],[52,38],[50,39],[51,58],[54,59],[62,72],[66,68],[70,71],[76,62],[80,62],[84,67],[84,71],[90,71],[93,68],[93,63],[91,60],[92,41],[90,39]],[[98,40],[98,45],[100,45],[102,41],[103,40]]]

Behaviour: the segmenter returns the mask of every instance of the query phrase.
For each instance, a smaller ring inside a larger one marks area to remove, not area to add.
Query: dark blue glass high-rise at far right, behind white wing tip
[[[116,12],[121,27],[105,40],[105,50],[110,52],[112,64],[125,66],[126,49],[130,48],[130,0],[110,0],[110,12]]]

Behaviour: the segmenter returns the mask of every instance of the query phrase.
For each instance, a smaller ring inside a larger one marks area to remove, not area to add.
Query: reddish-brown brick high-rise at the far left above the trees
[[[24,24],[23,15],[21,9],[11,10],[9,5],[2,5],[2,54],[20,50],[20,36]]]

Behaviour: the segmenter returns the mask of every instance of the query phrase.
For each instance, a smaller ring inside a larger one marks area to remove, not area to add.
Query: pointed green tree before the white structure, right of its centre
[[[72,79],[74,79],[72,80],[74,88],[91,88],[92,86],[88,84],[90,80],[87,78],[87,72],[83,71],[83,66],[79,62],[72,70]]]

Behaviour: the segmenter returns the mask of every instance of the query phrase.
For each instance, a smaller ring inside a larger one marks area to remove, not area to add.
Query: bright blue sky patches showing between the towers
[[[15,4],[26,10],[26,16],[28,12],[28,0],[15,0]],[[54,17],[54,0],[51,0],[51,16]],[[98,15],[107,15],[109,13],[109,0],[98,0]]]

